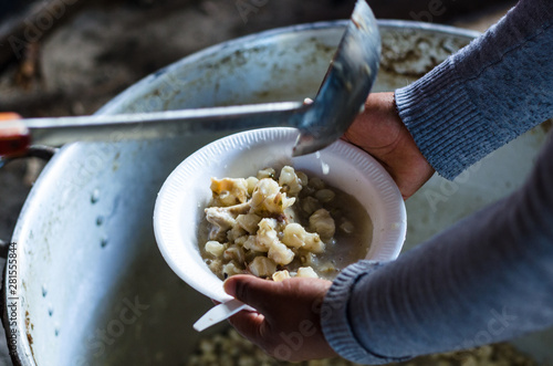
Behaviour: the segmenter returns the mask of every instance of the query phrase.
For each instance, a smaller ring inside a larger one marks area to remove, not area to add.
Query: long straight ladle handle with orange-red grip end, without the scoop
[[[262,127],[299,127],[309,105],[279,102],[118,115],[21,119],[13,113],[0,121],[0,157],[24,154],[33,145],[111,142],[231,133]]]

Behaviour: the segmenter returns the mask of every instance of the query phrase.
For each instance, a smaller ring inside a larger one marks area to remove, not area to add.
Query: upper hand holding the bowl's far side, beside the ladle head
[[[399,187],[413,196],[434,174],[396,109],[394,93],[371,94],[365,111],[343,137],[375,157]]]

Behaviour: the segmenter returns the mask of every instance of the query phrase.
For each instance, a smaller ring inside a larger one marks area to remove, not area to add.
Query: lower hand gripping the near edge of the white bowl
[[[225,291],[253,306],[229,318],[246,338],[269,355],[289,362],[336,356],[321,328],[321,304],[332,282],[292,278],[282,282],[233,275]]]

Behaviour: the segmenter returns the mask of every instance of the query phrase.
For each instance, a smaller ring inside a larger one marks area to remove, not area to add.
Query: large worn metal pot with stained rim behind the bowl
[[[98,113],[301,101],[316,93],[344,24],[285,28],[207,49],[146,77]],[[380,22],[380,32],[375,91],[406,85],[476,36],[393,21]],[[15,363],[180,365],[186,359],[199,336],[191,324],[211,303],[166,265],[152,216],[174,167],[218,137],[119,142],[114,132],[108,143],[73,144],[55,155],[13,233],[17,292],[10,292],[13,280],[4,279],[4,326]],[[432,178],[407,202],[406,250],[521,185],[543,139],[536,128],[458,181]],[[551,343],[534,339],[518,344],[552,364]]]

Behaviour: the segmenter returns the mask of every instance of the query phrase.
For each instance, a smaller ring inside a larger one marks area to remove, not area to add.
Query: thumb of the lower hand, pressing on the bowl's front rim
[[[271,303],[269,299],[274,296],[276,284],[254,275],[237,274],[225,281],[223,289],[229,295],[264,313]]]

